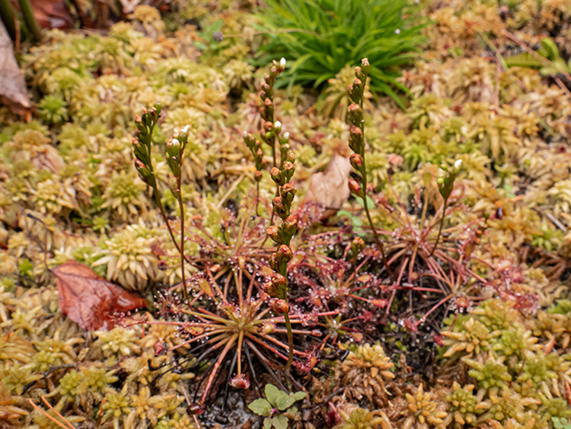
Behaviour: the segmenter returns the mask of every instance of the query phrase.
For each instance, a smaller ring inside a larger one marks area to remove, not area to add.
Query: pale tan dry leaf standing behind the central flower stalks
[[[349,159],[335,154],[325,172],[311,176],[310,189],[303,198],[302,206],[317,205],[325,209],[320,220],[333,216],[349,198],[347,182],[351,169]]]

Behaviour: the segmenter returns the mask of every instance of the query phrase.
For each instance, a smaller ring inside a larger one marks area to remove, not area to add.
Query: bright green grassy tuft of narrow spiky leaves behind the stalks
[[[425,40],[415,4],[408,0],[269,0],[266,4],[258,16],[269,43],[261,48],[260,62],[281,57],[292,61],[285,82],[319,87],[345,65],[367,56],[371,91],[390,95],[404,108],[397,91],[408,94],[408,89],[396,78]]]

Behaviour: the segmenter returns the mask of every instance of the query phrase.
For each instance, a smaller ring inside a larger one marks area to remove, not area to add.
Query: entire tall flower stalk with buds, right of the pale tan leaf
[[[352,125],[349,130],[349,147],[353,151],[350,157],[352,168],[355,169],[359,176],[357,179],[349,180],[349,189],[352,194],[359,196],[363,200],[363,207],[367,213],[368,225],[375,235],[375,241],[381,251],[383,263],[385,264],[386,271],[390,274],[391,268],[386,260],[385,247],[377,234],[377,229],[373,225],[373,219],[368,210],[367,202],[367,164],[365,162],[365,120],[363,118],[363,100],[365,98],[365,86],[367,84],[368,71],[370,64],[367,58],[363,58],[360,67],[355,67],[355,80],[352,85],[347,88],[349,98],[352,104],[347,108],[347,120]]]

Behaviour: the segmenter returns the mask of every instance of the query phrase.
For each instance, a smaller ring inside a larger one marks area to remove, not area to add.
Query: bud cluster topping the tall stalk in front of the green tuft
[[[349,189],[352,194],[364,197],[362,178],[366,176],[365,167],[365,136],[363,133],[363,98],[365,96],[365,84],[367,82],[370,65],[367,58],[364,58],[360,67],[355,67],[355,80],[347,87],[347,93],[352,104],[347,108],[347,120],[351,128],[349,129],[349,147],[353,151],[349,161],[351,166],[358,173],[355,178],[349,180]]]

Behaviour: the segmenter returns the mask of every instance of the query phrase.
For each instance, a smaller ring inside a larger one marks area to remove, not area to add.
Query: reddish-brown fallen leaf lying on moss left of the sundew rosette
[[[113,285],[75,260],[54,268],[54,275],[62,313],[88,331],[112,329],[115,313],[146,307],[143,298]]]

